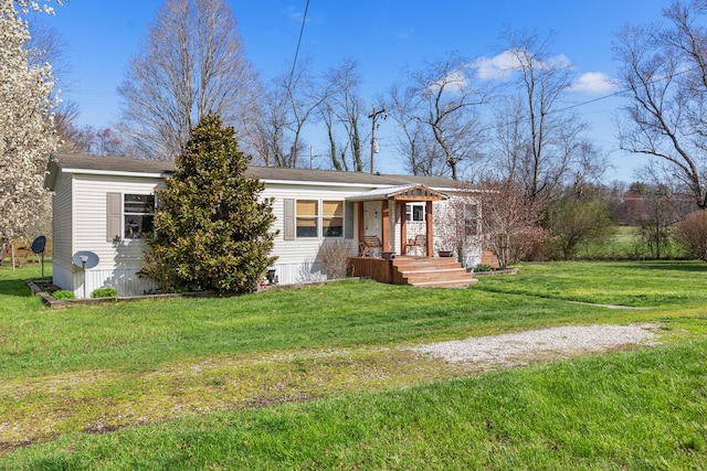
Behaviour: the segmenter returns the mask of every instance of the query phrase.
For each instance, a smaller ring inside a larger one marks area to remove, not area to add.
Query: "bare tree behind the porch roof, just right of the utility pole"
[[[428,135],[424,140],[433,143],[431,148],[426,146],[431,150],[428,157],[443,160],[443,167],[434,163],[426,167],[442,168],[454,180],[458,179],[463,167],[479,154],[484,139],[476,105],[484,103],[486,94],[475,86],[468,69],[468,61],[455,53],[441,61],[428,62],[421,69],[410,73],[405,89],[391,89],[388,99],[393,104],[393,118],[404,129],[414,129],[410,120],[424,125]],[[407,136],[411,144],[418,143],[410,141],[412,132]],[[418,156],[413,156],[418,160]]]

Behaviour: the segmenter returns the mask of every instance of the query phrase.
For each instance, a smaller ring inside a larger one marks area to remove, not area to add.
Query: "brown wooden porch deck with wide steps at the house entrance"
[[[354,257],[350,259],[355,277],[368,277],[390,285],[412,285],[428,288],[464,288],[476,279],[452,257],[397,256]]]

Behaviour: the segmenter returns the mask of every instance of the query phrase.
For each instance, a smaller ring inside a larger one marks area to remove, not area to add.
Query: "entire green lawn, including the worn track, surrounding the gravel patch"
[[[30,296],[28,277],[39,269],[0,270],[0,469],[707,462],[701,263],[530,264],[464,290],[345,280],[64,310]],[[632,322],[659,323],[664,343],[495,373],[409,350]]]

